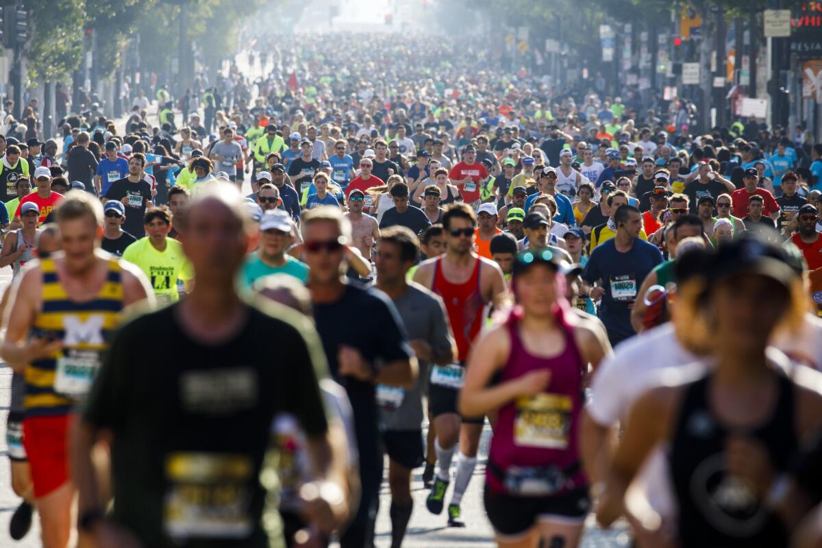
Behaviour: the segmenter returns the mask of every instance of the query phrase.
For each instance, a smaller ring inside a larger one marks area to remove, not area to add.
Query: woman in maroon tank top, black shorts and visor
[[[516,302],[473,348],[459,412],[496,411],[485,509],[498,546],[573,548],[590,499],[577,450],[587,366],[610,352],[585,320],[566,315],[570,265],[548,249],[517,256]]]

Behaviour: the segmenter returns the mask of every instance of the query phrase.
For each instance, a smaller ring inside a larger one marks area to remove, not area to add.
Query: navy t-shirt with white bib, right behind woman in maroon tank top
[[[608,334],[626,338],[636,334],[630,325],[630,308],[638,298],[640,286],[653,267],[663,262],[659,248],[635,240],[630,251],[617,251],[614,238],[596,246],[589,257],[582,278],[588,283],[602,280],[605,295],[599,305],[599,319]]]

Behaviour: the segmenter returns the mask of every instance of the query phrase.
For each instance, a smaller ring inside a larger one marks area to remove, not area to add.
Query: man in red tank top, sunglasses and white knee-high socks
[[[450,483],[451,458],[457,440],[461,440],[454,495],[448,506],[449,524],[459,527],[459,502],[477,463],[484,417],[459,417],[457,396],[471,344],[483,325],[483,309],[488,303],[497,309],[501,306],[506,283],[495,262],[473,252],[477,217],[469,205],[449,205],[442,225],[448,239],[446,253],[419,265],[413,280],[442,297],[457,343],[458,363],[432,366],[429,378],[428,407],[434,417],[436,459],[440,466],[426,505],[432,513],[442,512]]]

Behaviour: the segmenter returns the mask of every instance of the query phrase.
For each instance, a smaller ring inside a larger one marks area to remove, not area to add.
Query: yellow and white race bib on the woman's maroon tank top
[[[514,443],[522,447],[567,449],[574,404],[563,394],[537,394],[516,400]]]

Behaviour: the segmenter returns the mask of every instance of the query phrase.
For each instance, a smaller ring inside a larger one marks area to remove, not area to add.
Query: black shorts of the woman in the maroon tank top
[[[486,483],[483,501],[488,521],[500,536],[521,535],[538,521],[552,518],[581,525],[591,508],[588,487],[577,487],[554,496],[522,497],[494,493]]]

